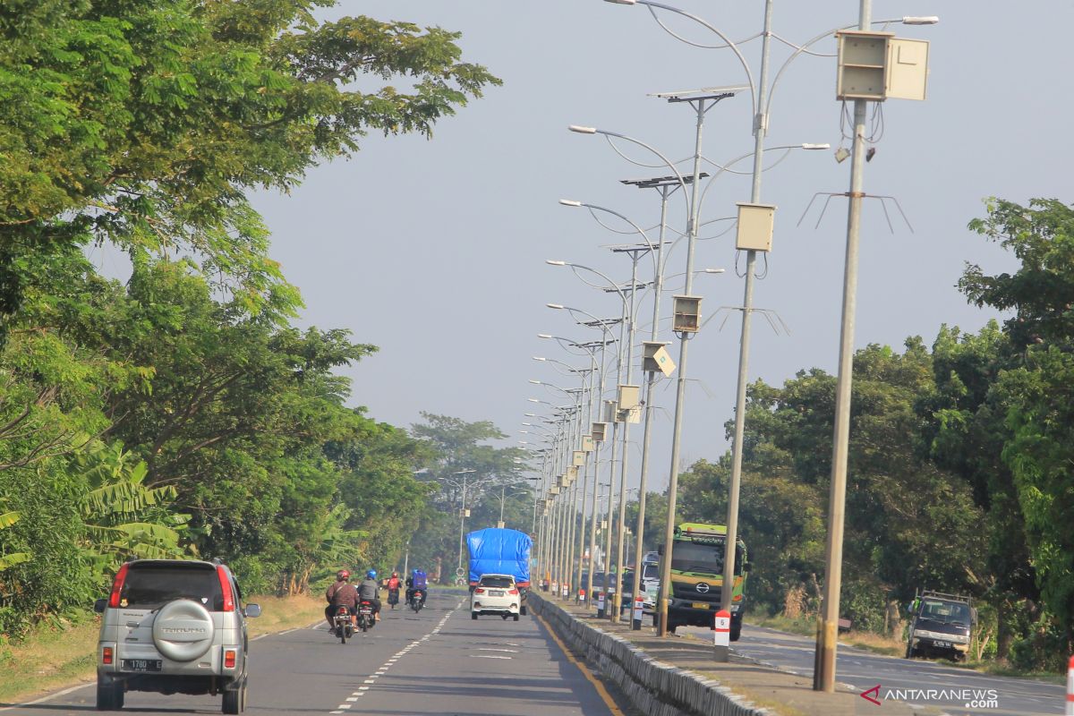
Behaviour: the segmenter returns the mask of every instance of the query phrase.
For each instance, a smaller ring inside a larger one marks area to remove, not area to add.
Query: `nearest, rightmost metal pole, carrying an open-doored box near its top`
[[[871,0],[861,0],[858,29],[872,21]],[[843,319],[839,334],[839,380],[836,384],[834,445],[828,498],[828,543],[825,551],[824,609],[817,624],[813,690],[836,690],[836,645],[839,631],[839,589],[843,570],[843,512],[846,502],[846,453],[851,434],[851,383],[854,377],[854,316],[858,289],[858,238],[865,186],[866,100],[854,101],[854,148],[850,205],[846,211],[846,260],[843,268]]]

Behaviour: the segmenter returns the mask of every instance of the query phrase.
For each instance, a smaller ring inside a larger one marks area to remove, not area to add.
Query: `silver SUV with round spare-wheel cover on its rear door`
[[[223,695],[246,708],[246,618],[238,583],[219,560],[139,559],[119,568],[97,645],[97,708],[122,708],[127,691]]]

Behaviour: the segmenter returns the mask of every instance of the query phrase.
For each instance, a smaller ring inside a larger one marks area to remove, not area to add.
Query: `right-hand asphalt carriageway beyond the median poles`
[[[681,630],[712,639],[707,629]],[[732,647],[743,656],[812,678],[814,645],[814,640],[808,637],[744,625],[742,639]],[[1035,680],[991,676],[925,659],[881,656],[842,645],[837,658],[836,678],[854,690],[861,692],[879,685],[879,693],[870,696],[881,701],[894,699],[937,706],[950,716],[1050,716],[1063,713],[1066,703],[1063,686]],[[871,707],[862,700],[857,713],[868,714]]]

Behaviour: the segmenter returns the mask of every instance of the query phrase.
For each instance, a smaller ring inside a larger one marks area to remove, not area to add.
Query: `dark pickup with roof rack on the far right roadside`
[[[970,597],[926,589],[910,605],[913,615],[906,639],[906,658],[915,656],[966,659],[977,610]]]

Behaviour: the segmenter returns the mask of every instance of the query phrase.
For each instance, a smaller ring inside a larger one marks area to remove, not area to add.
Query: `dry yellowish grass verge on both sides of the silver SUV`
[[[256,637],[324,618],[324,602],[314,597],[250,597],[261,616],[249,620]],[[0,641],[0,705],[33,699],[56,689],[93,682],[100,616],[85,622],[40,626],[17,643]]]

